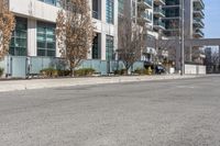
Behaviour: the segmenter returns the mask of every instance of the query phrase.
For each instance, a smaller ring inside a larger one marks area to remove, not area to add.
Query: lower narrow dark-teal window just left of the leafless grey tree
[[[107,35],[106,40],[106,59],[112,60],[114,59],[113,56],[113,36]]]

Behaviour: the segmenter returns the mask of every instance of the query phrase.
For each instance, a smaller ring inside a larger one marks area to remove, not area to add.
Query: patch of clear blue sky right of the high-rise
[[[205,8],[205,37],[220,38],[220,0],[204,0]]]

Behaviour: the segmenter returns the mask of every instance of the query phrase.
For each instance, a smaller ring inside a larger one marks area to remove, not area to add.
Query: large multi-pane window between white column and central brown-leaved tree
[[[37,22],[37,56],[55,55],[55,24]]]

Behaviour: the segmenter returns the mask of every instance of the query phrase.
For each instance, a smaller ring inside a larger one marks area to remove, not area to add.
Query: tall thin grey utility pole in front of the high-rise
[[[185,4],[185,0],[182,0],[182,7],[180,7],[180,11],[182,11],[182,31],[180,31],[180,35],[182,35],[182,43],[180,43],[180,52],[182,52],[182,55],[180,55],[180,69],[182,69],[182,72],[180,75],[183,76],[185,74],[185,40],[184,40],[184,23],[185,23],[185,8],[184,8],[184,4]]]

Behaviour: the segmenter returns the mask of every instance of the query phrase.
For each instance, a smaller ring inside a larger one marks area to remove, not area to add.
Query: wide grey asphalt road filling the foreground
[[[220,77],[0,93],[0,146],[219,146]]]

